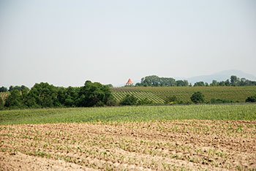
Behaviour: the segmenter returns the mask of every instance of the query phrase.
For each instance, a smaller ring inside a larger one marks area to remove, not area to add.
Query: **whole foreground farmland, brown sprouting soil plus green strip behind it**
[[[0,170],[256,170],[255,120],[256,104],[5,110]]]

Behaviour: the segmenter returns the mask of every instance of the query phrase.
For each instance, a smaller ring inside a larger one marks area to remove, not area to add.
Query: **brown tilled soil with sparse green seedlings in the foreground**
[[[256,170],[256,121],[7,125],[0,170]]]

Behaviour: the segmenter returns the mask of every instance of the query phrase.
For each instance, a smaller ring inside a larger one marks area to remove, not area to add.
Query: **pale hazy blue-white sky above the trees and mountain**
[[[255,0],[0,0],[0,86],[256,75]]]

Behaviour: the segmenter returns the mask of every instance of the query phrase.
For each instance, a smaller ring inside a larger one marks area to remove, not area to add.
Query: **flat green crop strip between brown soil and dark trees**
[[[88,107],[0,111],[1,125],[176,119],[256,120],[256,104]]]

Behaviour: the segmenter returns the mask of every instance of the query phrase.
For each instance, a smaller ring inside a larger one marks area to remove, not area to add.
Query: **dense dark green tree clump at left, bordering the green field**
[[[101,83],[86,81],[82,87],[63,88],[48,83],[36,83],[30,90],[15,86],[5,102],[0,98],[0,109],[41,107],[98,107],[116,105],[110,88]]]

